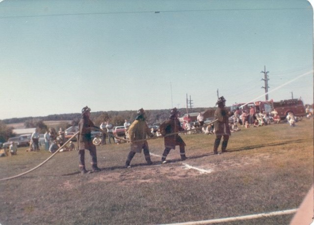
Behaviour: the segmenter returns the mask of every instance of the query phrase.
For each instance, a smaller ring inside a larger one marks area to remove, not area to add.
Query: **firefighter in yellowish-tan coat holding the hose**
[[[153,164],[151,161],[148,143],[145,140],[146,135],[153,137],[151,130],[148,128],[148,125],[145,120],[145,111],[140,109],[137,111],[137,116],[134,122],[129,127],[129,138],[131,139],[131,151],[128,155],[126,161],[126,168],[130,168],[130,163],[136,152],[141,153],[142,149],[144,152],[145,160],[148,165]],[[140,141],[139,141],[140,140]]]

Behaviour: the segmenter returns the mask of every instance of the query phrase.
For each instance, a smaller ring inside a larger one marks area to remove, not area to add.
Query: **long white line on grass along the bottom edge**
[[[288,210],[270,212],[270,213],[260,213],[260,214],[253,214],[253,215],[247,215],[247,216],[194,221],[194,222],[186,222],[186,223],[176,223],[176,224],[168,224],[168,225],[204,225],[204,224],[226,223],[226,222],[233,222],[233,221],[239,221],[239,220],[252,220],[252,219],[259,219],[259,218],[264,218],[264,217],[292,214],[292,213],[295,213],[296,211],[297,209],[288,209]]]

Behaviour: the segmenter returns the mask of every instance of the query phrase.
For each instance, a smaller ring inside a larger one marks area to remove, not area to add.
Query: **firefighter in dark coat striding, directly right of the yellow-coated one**
[[[182,128],[180,121],[178,119],[179,113],[177,111],[177,108],[174,108],[170,111],[169,119],[164,121],[162,124],[160,124],[160,133],[165,136],[164,137],[164,144],[165,144],[165,150],[163,151],[161,163],[166,163],[167,155],[169,154],[171,149],[175,149],[176,145],[179,145],[180,147],[180,155],[182,160],[186,160],[187,157],[185,156],[185,143],[182,140],[182,138],[179,136],[179,131],[184,131]],[[173,135],[169,135],[171,133],[177,133]]]

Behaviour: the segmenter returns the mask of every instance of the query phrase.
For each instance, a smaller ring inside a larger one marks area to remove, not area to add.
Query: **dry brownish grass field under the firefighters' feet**
[[[153,165],[137,153],[130,169],[124,168],[129,143],[98,147],[102,170],[84,175],[77,151],[58,153],[39,169],[0,181],[0,223],[169,224],[297,208],[313,185],[313,120],[240,128],[220,155],[212,154],[214,136],[182,135],[189,158],[181,161],[179,150],[171,150],[163,165],[163,139],[149,141]],[[0,158],[0,178],[50,155],[19,148]],[[88,152],[85,159],[90,169]],[[292,217],[227,224],[286,225]]]

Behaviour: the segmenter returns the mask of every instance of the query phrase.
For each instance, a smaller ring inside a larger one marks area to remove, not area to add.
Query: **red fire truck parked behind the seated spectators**
[[[292,112],[295,116],[301,117],[305,116],[305,106],[302,100],[299,99],[289,99],[282,100],[279,102],[270,101],[258,101],[250,103],[236,103],[231,106],[231,112],[236,110],[250,112],[251,106],[254,107],[255,112],[266,112],[270,113],[273,109],[276,109],[278,115],[281,119],[285,119],[289,112]]]

